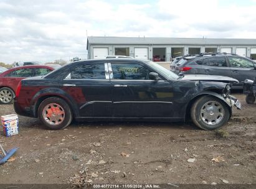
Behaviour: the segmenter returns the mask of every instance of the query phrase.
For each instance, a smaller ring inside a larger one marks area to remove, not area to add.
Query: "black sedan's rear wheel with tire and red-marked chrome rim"
[[[38,109],[39,119],[49,129],[64,129],[72,121],[72,112],[64,99],[50,97],[42,101]]]

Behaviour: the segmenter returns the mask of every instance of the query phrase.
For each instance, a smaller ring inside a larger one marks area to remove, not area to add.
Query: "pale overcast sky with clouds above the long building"
[[[0,62],[87,57],[88,36],[256,37],[256,0],[0,0]]]

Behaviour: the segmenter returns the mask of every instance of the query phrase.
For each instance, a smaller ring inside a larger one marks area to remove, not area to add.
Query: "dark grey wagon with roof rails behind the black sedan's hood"
[[[254,80],[256,63],[249,58],[228,53],[203,53],[196,57],[184,57],[173,69],[177,74],[203,74],[229,76],[239,80],[232,88],[242,89],[244,80]]]

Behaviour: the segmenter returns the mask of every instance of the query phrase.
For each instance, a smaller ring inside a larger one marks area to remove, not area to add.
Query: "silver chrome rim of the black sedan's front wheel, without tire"
[[[200,111],[201,119],[207,125],[214,126],[224,118],[224,108],[218,101],[208,101]]]

